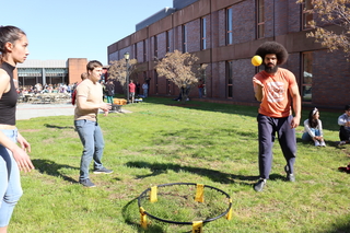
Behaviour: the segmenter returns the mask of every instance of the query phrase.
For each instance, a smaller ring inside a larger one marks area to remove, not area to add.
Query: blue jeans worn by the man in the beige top
[[[94,160],[94,170],[103,167],[101,160],[105,142],[97,121],[80,119],[74,120],[74,126],[84,147],[79,176],[79,180],[83,180],[89,178],[89,166],[92,160]]]

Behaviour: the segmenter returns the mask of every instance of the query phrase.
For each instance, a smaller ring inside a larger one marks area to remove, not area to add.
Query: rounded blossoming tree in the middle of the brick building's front
[[[173,82],[182,94],[182,101],[188,98],[189,89],[202,78],[208,65],[196,63],[199,58],[188,53],[167,53],[158,61],[155,70],[160,77]]]

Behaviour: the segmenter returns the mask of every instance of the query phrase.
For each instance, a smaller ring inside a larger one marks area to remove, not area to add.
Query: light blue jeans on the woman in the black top
[[[16,142],[18,130],[1,130],[13,142]],[[12,152],[0,144],[0,228],[7,226],[23,194],[18,163]]]

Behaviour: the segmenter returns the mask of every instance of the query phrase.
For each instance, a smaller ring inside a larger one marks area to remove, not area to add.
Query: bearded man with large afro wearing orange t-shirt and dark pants
[[[256,55],[262,58],[265,67],[253,78],[255,97],[260,102],[257,116],[260,178],[254,189],[261,191],[271,171],[276,133],[287,161],[287,180],[295,182],[295,128],[301,118],[301,96],[294,74],[279,67],[288,59],[288,51],[281,44],[266,42],[259,46]]]

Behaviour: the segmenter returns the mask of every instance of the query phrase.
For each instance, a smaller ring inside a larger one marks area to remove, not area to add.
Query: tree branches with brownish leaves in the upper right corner
[[[296,3],[304,4],[306,0],[298,0]],[[315,19],[307,22],[313,32],[306,34],[314,37],[329,51],[342,50],[350,55],[350,0],[310,0],[311,9],[304,9],[305,13],[314,14]],[[340,33],[328,31],[324,25],[336,25]]]

